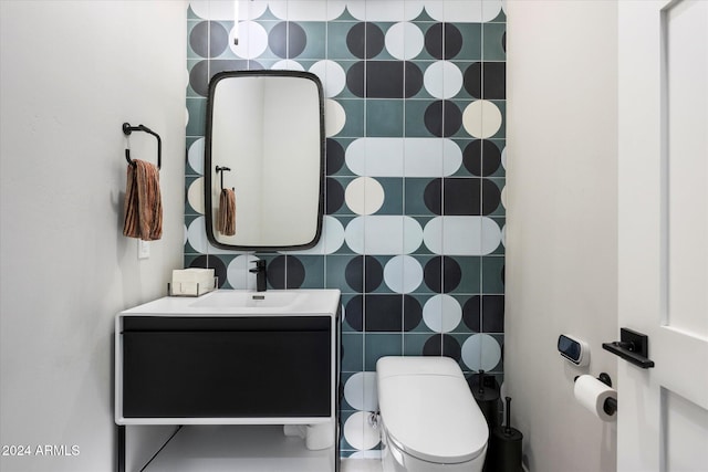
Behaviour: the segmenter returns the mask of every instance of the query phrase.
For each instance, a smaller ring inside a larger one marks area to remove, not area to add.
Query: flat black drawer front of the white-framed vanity
[[[332,415],[329,316],[123,322],[125,418]]]

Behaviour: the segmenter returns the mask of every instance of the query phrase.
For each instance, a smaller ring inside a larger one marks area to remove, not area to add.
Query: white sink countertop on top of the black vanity
[[[335,315],[341,292],[335,289],[217,290],[199,297],[165,296],[125,310],[123,315],[150,316],[253,316],[253,315]]]

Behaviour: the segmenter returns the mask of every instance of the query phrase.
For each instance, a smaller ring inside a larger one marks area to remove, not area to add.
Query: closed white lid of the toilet
[[[406,453],[428,462],[459,463],[485,451],[487,421],[461,375],[402,375],[378,381],[384,428]]]

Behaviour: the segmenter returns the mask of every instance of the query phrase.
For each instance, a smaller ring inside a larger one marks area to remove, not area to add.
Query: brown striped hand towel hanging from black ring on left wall
[[[154,241],[163,235],[163,201],[159,193],[159,170],[153,164],[134,160],[128,165],[125,189],[123,234]]]

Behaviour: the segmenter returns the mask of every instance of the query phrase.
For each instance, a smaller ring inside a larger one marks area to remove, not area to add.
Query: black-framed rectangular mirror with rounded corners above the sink
[[[316,244],[324,207],[323,102],[320,80],[308,72],[235,71],[211,78],[205,203],[214,245],[277,251]]]

